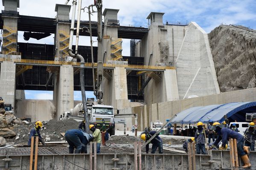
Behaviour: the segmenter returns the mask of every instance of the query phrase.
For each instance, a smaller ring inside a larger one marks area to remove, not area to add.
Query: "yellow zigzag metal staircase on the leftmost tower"
[[[5,54],[16,52],[17,28],[3,26],[3,51]]]

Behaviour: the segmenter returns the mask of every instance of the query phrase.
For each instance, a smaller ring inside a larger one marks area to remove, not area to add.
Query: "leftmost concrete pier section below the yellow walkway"
[[[15,108],[15,71],[14,62],[4,61],[1,63],[0,96],[5,104],[12,104],[13,108]]]

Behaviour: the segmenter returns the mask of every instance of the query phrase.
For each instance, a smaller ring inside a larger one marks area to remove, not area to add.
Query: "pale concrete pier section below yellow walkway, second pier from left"
[[[62,113],[74,108],[74,68],[72,65],[61,65],[56,74],[53,100],[56,105],[56,119]]]

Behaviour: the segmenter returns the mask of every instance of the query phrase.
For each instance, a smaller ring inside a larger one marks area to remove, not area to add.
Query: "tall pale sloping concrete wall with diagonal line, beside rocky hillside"
[[[208,36],[194,22],[188,25],[176,65],[180,99],[220,93]]]

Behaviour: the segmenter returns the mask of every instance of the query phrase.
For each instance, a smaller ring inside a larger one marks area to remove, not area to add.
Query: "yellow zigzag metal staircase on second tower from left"
[[[68,56],[68,45],[69,45],[69,33],[65,31],[59,31],[59,50],[60,57]]]

